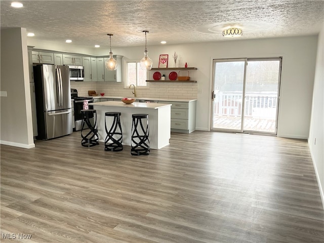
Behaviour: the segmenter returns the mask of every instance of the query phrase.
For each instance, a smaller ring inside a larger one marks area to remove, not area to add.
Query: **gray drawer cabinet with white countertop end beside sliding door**
[[[172,132],[191,133],[196,129],[196,100],[189,102],[158,101],[158,103],[172,104]]]

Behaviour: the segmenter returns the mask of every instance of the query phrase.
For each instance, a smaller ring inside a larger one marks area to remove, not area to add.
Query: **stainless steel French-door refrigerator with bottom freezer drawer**
[[[72,110],[68,66],[33,67],[37,132],[36,139],[52,139],[71,134]]]

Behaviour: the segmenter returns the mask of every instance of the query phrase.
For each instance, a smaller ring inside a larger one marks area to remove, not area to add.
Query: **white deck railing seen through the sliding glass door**
[[[245,97],[245,116],[275,117],[277,94],[250,93]],[[216,94],[214,99],[214,114],[240,116],[242,110],[242,93]]]

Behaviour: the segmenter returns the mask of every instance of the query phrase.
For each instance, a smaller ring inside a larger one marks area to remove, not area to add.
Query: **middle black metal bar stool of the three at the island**
[[[106,112],[105,113],[105,151],[121,151],[123,150],[123,131],[120,125],[121,112]],[[107,117],[113,117],[111,127],[107,129]]]

